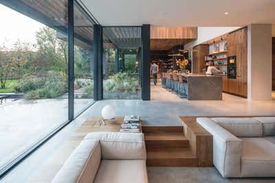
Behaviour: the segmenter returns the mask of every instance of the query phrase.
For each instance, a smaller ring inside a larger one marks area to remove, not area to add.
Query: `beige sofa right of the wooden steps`
[[[223,177],[275,177],[275,117],[197,118],[213,136]]]

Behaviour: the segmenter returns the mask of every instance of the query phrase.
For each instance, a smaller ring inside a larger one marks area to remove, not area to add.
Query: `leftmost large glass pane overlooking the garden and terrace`
[[[0,169],[68,120],[67,1],[5,2],[0,4]]]

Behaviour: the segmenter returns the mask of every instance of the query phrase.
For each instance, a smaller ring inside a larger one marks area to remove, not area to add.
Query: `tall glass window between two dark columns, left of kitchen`
[[[141,99],[141,27],[103,27],[103,98]]]

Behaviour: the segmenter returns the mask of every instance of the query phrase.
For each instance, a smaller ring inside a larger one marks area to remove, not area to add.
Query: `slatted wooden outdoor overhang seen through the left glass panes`
[[[52,27],[58,32],[67,34],[68,12],[67,0],[18,0],[34,11],[24,14],[39,19],[41,23]],[[20,8],[20,7],[19,7]],[[21,10],[21,12],[24,10]],[[35,17],[36,16],[36,17]],[[92,45],[94,39],[94,21],[90,19],[79,5],[74,6],[74,32],[78,41]]]

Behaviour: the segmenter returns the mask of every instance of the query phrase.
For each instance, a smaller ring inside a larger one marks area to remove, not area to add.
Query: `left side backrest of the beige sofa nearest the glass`
[[[82,141],[58,171],[52,183],[93,182],[100,160],[99,141]]]

